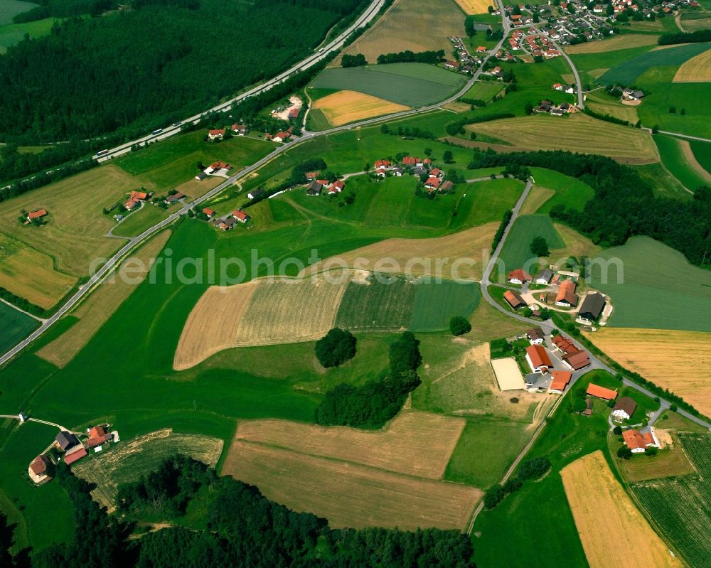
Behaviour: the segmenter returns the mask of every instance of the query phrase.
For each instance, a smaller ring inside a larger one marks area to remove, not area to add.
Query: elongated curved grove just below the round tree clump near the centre
[[[390,373],[362,386],[341,383],[326,392],[316,409],[316,422],[325,426],[380,428],[400,411],[407,395],[420,383],[419,340],[403,332],[390,345]]]

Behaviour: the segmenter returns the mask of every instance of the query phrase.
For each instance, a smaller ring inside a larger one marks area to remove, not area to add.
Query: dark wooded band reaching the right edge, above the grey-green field
[[[606,156],[562,150],[475,151],[469,168],[511,164],[552,169],[591,186],[594,197],[582,211],[559,204],[550,215],[595,244],[613,247],[634,235],[646,235],[682,252],[692,264],[711,264],[711,189],[698,188],[690,200],[659,197],[629,166]]]

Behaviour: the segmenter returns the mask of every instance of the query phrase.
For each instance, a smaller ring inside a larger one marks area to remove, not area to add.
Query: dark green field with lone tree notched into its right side
[[[548,215],[522,215],[514,221],[501,250],[505,272],[521,267],[529,272],[535,269],[538,259],[530,251],[530,243],[535,237],[545,238],[550,249],[565,245]]]

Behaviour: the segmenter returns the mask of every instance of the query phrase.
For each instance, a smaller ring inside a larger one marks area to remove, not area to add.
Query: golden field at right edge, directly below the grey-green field
[[[711,415],[711,333],[602,328],[586,335],[625,368]]]

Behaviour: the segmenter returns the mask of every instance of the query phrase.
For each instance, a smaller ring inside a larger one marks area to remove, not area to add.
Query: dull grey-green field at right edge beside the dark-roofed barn
[[[711,282],[707,270],[649,237],[598,255],[607,266],[592,266],[591,284],[609,294],[614,313],[609,326],[711,331]]]

